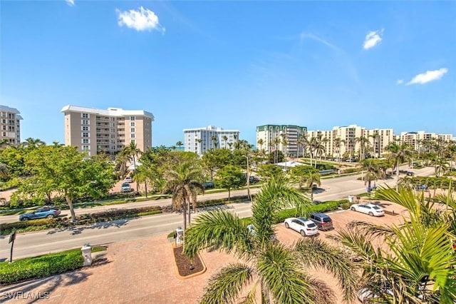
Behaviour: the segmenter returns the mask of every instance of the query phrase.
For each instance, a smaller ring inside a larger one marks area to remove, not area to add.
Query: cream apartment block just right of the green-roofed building
[[[371,154],[374,157],[382,157],[386,152],[385,147],[394,140],[392,128],[387,129],[366,129],[357,125],[335,126],[331,131],[308,131],[308,140],[312,137],[321,138],[321,143],[325,147],[326,157],[343,156],[345,153],[356,155],[361,148],[361,143],[356,138],[361,136],[369,141]],[[337,139],[339,138],[339,139]],[[326,139],[326,140],[325,140]],[[338,141],[340,140],[340,145]]]

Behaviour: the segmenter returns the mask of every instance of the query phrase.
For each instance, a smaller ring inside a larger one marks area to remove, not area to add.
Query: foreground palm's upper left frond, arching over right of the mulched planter
[[[194,258],[199,250],[215,246],[230,253],[238,249],[239,257],[252,253],[252,237],[239,216],[224,210],[208,211],[198,216],[185,232],[184,250]]]

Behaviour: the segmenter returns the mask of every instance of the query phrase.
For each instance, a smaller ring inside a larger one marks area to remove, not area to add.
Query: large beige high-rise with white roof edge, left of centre
[[[143,110],[123,110],[122,108],[86,108],[64,106],[65,144],[77,146],[88,156],[103,151],[118,153],[130,142],[142,151],[152,147],[152,113]]]

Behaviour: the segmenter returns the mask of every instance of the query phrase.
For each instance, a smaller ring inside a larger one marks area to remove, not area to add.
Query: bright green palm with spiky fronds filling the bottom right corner
[[[380,188],[375,198],[404,206],[410,218],[391,227],[351,223],[339,232],[362,258],[361,283],[378,295],[375,303],[456,303],[455,217],[409,188]]]

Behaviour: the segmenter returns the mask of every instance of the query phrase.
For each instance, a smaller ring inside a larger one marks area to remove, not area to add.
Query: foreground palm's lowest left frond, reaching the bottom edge
[[[244,264],[230,264],[209,279],[201,302],[203,304],[233,303],[245,285],[253,278],[254,271]]]

